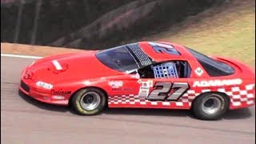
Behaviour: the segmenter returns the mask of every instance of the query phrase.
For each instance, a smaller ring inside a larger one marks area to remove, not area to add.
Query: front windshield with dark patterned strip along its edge
[[[99,51],[96,58],[111,69],[127,74],[152,64],[151,59],[141,50],[138,43]]]

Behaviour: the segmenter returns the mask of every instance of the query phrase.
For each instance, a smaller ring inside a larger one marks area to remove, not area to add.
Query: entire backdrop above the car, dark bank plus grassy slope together
[[[162,40],[255,65],[254,0],[1,0],[1,42],[101,50]]]

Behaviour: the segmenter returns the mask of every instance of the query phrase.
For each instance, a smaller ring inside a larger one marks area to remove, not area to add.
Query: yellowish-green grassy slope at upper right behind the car
[[[255,65],[255,1],[230,0],[142,38],[189,46],[205,54],[238,58]]]

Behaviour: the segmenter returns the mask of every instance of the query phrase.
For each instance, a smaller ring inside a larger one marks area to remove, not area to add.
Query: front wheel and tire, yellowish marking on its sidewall
[[[106,106],[106,96],[96,88],[82,89],[74,94],[71,106],[80,115],[98,114]]]

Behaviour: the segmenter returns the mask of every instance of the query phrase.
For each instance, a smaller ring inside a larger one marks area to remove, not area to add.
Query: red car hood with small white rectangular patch
[[[28,70],[33,74],[34,81],[51,83],[122,74],[99,62],[95,56],[96,52],[91,50],[42,58],[31,64]]]

